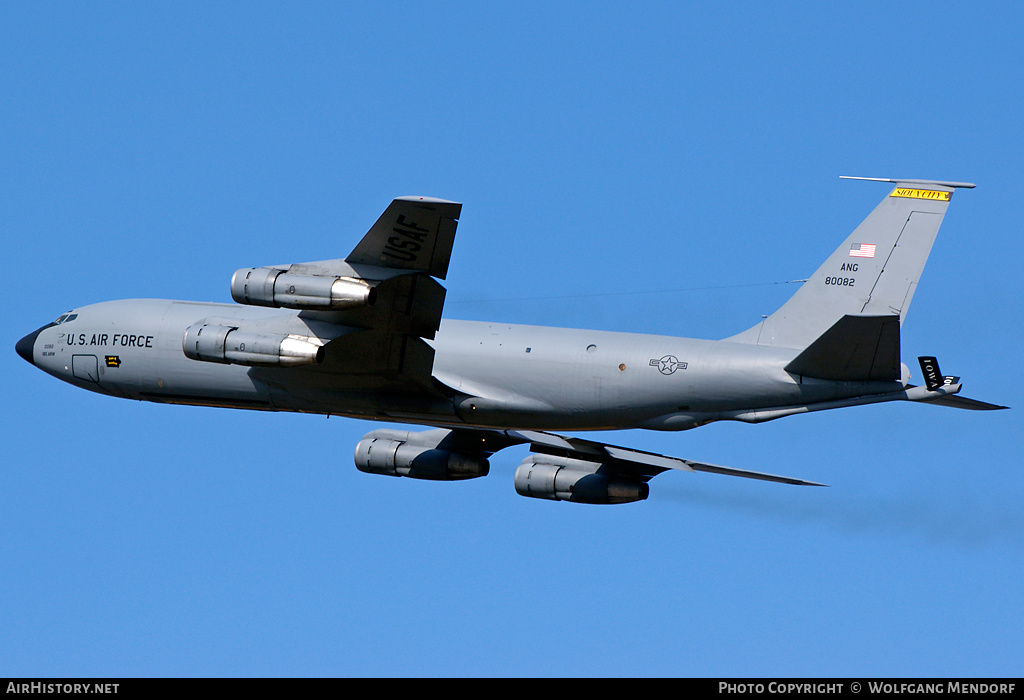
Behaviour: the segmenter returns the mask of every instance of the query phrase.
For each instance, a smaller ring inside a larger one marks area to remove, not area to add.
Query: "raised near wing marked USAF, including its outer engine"
[[[391,202],[347,258],[245,268],[231,279],[241,304],[299,309],[295,335],[323,345],[325,389],[436,393],[434,337],[462,205],[426,196]]]

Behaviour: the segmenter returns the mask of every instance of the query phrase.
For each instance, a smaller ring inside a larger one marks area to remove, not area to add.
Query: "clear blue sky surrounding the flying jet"
[[[600,434],[830,485],[648,500],[357,472],[377,424],[153,405],[15,341],[228,301],[464,203],[445,315],[754,324],[884,184],[966,180],[903,359],[1017,404],[1019,3],[4,3],[0,675],[1020,675],[1021,409],[888,404]]]

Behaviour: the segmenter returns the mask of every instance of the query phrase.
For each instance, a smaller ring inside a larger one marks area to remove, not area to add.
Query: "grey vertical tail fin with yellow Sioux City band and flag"
[[[906,316],[952,191],[970,182],[891,180],[896,187],[782,308],[728,339],[805,349],[844,316]]]

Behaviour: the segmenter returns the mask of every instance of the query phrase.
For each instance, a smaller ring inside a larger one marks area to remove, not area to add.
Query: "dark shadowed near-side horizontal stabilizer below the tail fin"
[[[837,382],[895,382],[900,379],[899,356],[899,316],[847,314],[785,370]]]

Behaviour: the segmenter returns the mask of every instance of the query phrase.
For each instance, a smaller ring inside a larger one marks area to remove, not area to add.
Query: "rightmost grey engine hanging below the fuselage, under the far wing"
[[[549,454],[531,454],[515,471],[519,495],[574,504],[630,504],[644,500],[650,488],[643,481],[601,472],[597,462]]]

